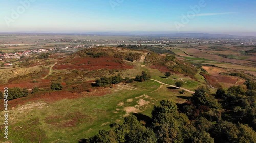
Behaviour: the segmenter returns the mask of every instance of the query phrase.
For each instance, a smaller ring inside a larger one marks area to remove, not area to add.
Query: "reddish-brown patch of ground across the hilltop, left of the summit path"
[[[63,60],[53,67],[53,69],[132,69],[132,66],[126,65],[119,58],[100,57],[100,58],[80,58]]]

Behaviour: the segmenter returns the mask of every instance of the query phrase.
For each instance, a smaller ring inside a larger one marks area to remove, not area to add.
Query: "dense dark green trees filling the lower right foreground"
[[[256,142],[256,87],[199,87],[184,104],[163,100],[151,117],[134,114],[123,124],[79,142]]]

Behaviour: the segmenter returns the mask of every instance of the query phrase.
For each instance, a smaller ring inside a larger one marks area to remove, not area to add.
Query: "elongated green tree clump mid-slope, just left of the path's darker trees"
[[[118,84],[123,81],[123,78],[120,74],[112,76],[112,77],[101,77],[95,80],[95,85],[97,87],[106,87],[111,84]]]

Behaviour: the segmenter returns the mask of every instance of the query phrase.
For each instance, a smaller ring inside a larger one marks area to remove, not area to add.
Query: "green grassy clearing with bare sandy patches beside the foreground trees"
[[[113,89],[117,91],[100,97],[60,100],[46,104],[41,109],[33,107],[30,110],[10,110],[12,125],[9,128],[9,139],[31,143],[38,140],[77,142],[80,138],[96,134],[100,129],[108,129],[111,123],[122,123],[123,116],[128,113],[126,108],[135,108],[138,113],[150,116],[153,106],[159,104],[160,100],[183,102],[185,99],[177,96],[191,95],[182,95],[179,93],[181,90],[168,89],[155,81],[134,82],[130,86],[134,88]],[[140,101],[144,101],[144,104]],[[3,117],[0,119],[3,120]]]

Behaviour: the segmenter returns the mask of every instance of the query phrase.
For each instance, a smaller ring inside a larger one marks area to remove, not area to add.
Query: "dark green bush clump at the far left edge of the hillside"
[[[8,100],[13,100],[21,97],[28,96],[28,90],[27,89],[21,89],[18,87],[14,88],[8,88]],[[4,95],[2,92],[0,92],[1,99],[4,99]]]

